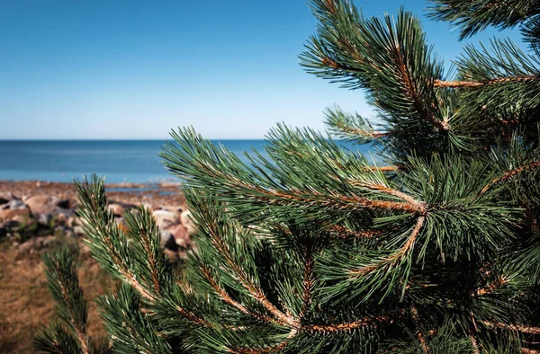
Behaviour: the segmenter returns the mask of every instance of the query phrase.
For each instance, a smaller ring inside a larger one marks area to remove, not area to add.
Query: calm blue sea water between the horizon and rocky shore
[[[241,155],[263,140],[220,140]],[[0,141],[0,180],[73,181],[98,173],[107,182],[178,181],[161,158],[164,140]],[[366,152],[368,146],[356,146]],[[264,154],[263,154],[264,155]]]

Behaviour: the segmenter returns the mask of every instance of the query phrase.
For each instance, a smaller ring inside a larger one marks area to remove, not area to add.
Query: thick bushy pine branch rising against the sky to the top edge
[[[402,119],[407,117],[409,124],[449,129],[442,113],[447,102],[433,90],[433,80],[442,76],[440,64],[415,17],[401,10],[395,22],[389,15],[365,20],[348,2],[330,6],[320,0],[313,9],[320,28],[300,57],[309,73],[364,88],[396,127],[408,124]]]

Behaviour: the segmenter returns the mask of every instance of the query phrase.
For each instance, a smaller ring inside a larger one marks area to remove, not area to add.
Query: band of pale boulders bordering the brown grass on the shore
[[[115,221],[127,230],[124,215],[134,204],[110,201],[109,208]],[[184,206],[151,206],[157,226],[161,230],[161,243],[169,258],[184,257],[193,246],[190,234],[193,224]],[[18,197],[11,192],[0,193],[0,238],[11,238],[20,252],[45,248],[58,237],[84,235],[76,217],[76,202],[72,198],[60,199],[46,194]]]

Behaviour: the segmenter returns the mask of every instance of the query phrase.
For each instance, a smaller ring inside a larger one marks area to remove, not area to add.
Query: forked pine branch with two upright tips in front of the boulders
[[[136,248],[139,247],[139,258],[132,260],[125,235],[107,207],[103,179],[93,175],[90,182],[86,179],[77,181],[76,190],[80,200],[79,214],[84,223],[85,235],[90,238],[88,244],[94,258],[105,270],[136,289],[148,303],[155,304],[160,296],[153,290],[160,294],[163,286],[170,281],[170,270],[166,269],[165,255],[159,246],[159,233],[148,210],[141,208],[137,215],[126,215],[131,227],[130,235],[136,240]],[[148,254],[147,249],[150,250]],[[146,267],[142,266],[145,264]],[[138,266],[143,267],[140,274],[136,271]],[[148,284],[139,279],[148,279]],[[191,323],[211,327],[211,323],[180,305],[175,305],[175,310]]]

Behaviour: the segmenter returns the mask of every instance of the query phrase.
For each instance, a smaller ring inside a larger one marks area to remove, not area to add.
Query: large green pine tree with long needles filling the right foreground
[[[182,279],[147,209],[128,212],[124,233],[103,181],[78,183],[94,257],[123,283],[97,301],[112,350],[539,353],[540,4],[432,0],[463,38],[518,26],[529,46],[466,46],[451,72],[411,13],[311,7],[302,66],[364,90],[378,113],[334,107],[329,129],[385,164],[309,128],[279,125],[268,157],[244,159],[179,128],[161,156],[197,226]],[[75,309],[60,317],[77,332]]]

